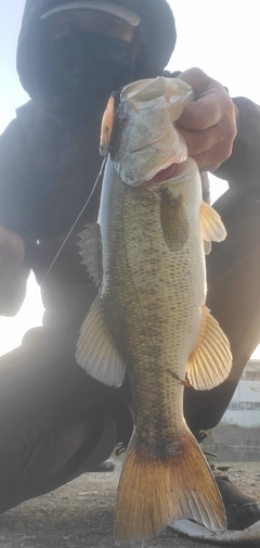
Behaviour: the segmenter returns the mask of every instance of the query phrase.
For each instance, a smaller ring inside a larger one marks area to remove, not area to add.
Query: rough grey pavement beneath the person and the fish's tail
[[[223,466],[223,463],[222,463]],[[259,462],[227,463],[231,480],[260,493]],[[115,548],[114,522],[120,466],[115,472],[83,474],[53,493],[0,515],[0,548]],[[136,548],[202,548],[166,530]],[[203,544],[212,548],[212,544]]]

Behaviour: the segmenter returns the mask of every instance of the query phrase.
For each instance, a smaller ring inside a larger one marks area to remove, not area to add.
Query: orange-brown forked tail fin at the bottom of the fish
[[[116,541],[147,540],[180,519],[213,533],[226,528],[221,495],[196,439],[184,430],[171,456],[147,460],[133,438],[118,486]]]

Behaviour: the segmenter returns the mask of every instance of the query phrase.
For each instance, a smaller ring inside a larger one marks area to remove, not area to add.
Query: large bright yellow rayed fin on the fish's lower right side
[[[229,340],[205,306],[198,344],[187,362],[187,380],[196,390],[210,390],[229,377],[231,368]]]

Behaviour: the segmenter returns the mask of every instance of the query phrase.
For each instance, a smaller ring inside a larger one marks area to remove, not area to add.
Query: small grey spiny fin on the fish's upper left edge
[[[79,233],[79,254],[82,257],[82,265],[87,266],[88,272],[94,279],[96,285],[101,288],[102,269],[102,239],[101,228],[98,222],[86,225],[84,230]]]

